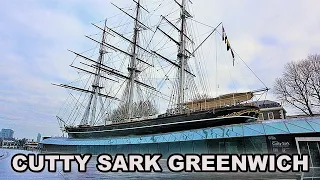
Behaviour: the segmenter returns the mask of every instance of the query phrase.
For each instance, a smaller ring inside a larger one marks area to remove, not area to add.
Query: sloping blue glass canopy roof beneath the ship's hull
[[[320,117],[266,120],[144,136],[102,139],[48,138],[43,140],[41,144],[123,145],[299,133],[320,133]]]

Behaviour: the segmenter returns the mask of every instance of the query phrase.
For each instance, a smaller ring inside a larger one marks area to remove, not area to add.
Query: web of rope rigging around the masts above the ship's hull
[[[91,63],[87,64],[86,68],[89,68],[90,72],[97,73],[89,74],[77,70],[79,79],[69,84],[76,84],[87,91],[76,95],[69,92],[71,96],[69,100],[73,103],[66,103],[66,109],[59,111],[59,114],[62,113],[61,117],[69,113],[67,118],[60,118],[59,115],[60,120],[71,125],[77,124],[80,120],[81,125],[91,126],[106,124],[106,121],[131,121],[139,116],[155,115],[165,110],[163,105],[156,104],[166,104],[167,111],[184,113],[186,110],[184,104],[199,99],[209,99],[210,92],[216,92],[216,96],[220,91],[224,92],[219,88],[219,83],[225,82],[218,80],[218,71],[225,69],[231,79],[231,89],[237,89],[237,83],[233,81],[233,71],[228,65],[228,57],[224,53],[218,54],[218,37],[223,36],[227,39],[225,31],[220,33],[218,30],[220,26],[223,28],[222,23],[212,27],[195,20],[189,13],[193,11],[188,5],[177,8],[175,2],[170,4],[158,0],[154,3],[155,7],[151,5],[139,7],[139,2],[132,3],[128,8],[119,8],[120,11],[124,9],[127,11],[107,18],[108,26],[104,26],[105,30],[102,28],[101,33],[101,29],[98,28],[99,33],[89,36],[94,39],[95,46],[76,55],[71,63],[72,66],[78,67],[79,64],[82,67],[85,64],[82,62]],[[139,12],[139,8],[143,10]],[[167,20],[160,17],[159,21],[154,21],[159,18],[158,11],[166,11],[163,17]],[[136,13],[136,16],[128,17],[128,13]],[[101,23],[106,23],[106,20],[98,21],[94,25]],[[209,30],[199,29],[198,24]],[[101,36],[105,38],[102,42],[95,41]],[[211,46],[212,44],[215,48]],[[236,55],[237,59],[239,58],[266,87],[231,47],[229,39],[220,41],[220,49],[225,45],[227,50],[231,50],[233,58]],[[225,48],[222,51],[226,52]],[[90,56],[85,56],[90,52]],[[95,58],[99,55],[102,57]],[[220,58],[221,56],[224,57]],[[78,62],[79,59],[81,62]],[[218,67],[219,59],[224,60],[224,69]],[[239,62],[233,60],[233,63]],[[115,82],[108,78],[112,78]],[[211,87],[212,82],[216,83],[214,89]],[[119,101],[108,97],[117,98]]]

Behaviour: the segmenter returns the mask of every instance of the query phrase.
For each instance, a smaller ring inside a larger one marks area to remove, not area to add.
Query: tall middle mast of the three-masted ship
[[[133,40],[132,40],[132,52],[131,52],[131,62],[130,66],[128,68],[129,71],[129,99],[128,99],[128,120],[130,121],[130,118],[132,117],[132,104],[133,104],[133,96],[134,96],[134,85],[135,85],[135,79],[136,79],[136,71],[137,71],[137,44],[138,44],[138,38],[139,38],[139,29],[138,29],[138,22],[139,22],[139,10],[140,10],[140,0],[136,3],[136,17],[134,20],[134,33],[133,33]]]

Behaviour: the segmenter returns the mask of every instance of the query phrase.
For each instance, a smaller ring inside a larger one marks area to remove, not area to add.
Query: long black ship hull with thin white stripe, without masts
[[[250,110],[250,111],[248,111]],[[242,113],[243,112],[243,113]],[[227,116],[238,113],[238,116]],[[106,126],[67,128],[71,138],[148,135],[255,121],[257,108],[237,106]]]

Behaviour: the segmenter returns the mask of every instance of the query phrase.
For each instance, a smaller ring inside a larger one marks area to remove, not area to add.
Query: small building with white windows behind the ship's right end
[[[254,104],[260,108],[259,120],[286,119],[287,111],[278,102],[263,100]]]

